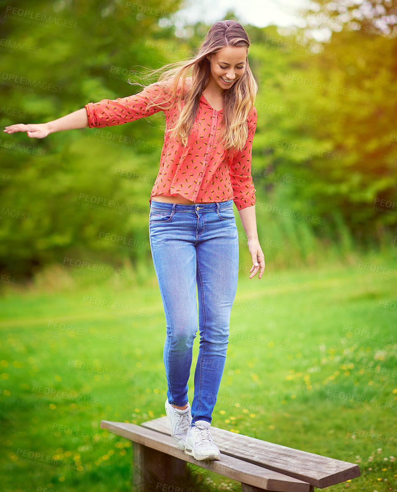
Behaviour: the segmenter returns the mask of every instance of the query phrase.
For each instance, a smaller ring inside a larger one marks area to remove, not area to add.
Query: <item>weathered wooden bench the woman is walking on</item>
[[[211,433],[220,460],[197,461],[174,444],[167,417],[140,426],[102,420],[101,429],[132,441],[134,492],[186,492],[186,462],[241,482],[242,492],[314,492],[314,487],[323,489],[360,476],[357,464],[213,426]]]

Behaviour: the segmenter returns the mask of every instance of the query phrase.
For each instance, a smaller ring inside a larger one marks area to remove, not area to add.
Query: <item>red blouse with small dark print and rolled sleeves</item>
[[[135,95],[90,102],[85,105],[88,125],[90,128],[102,128],[129,123],[163,111],[157,106],[146,111],[148,96],[161,104],[162,98],[155,99],[159,94],[166,97],[166,93],[155,83]],[[238,210],[255,204],[251,150],[257,123],[256,108],[253,107],[247,118],[248,137],[240,152],[227,151],[217,142],[222,113],[222,110],[215,111],[201,95],[187,146],[183,147],[167,134],[164,136],[159,172],[150,202],[154,195],[175,196],[179,193],[192,202],[225,202],[232,198]],[[178,117],[175,106],[165,110],[164,114],[166,127],[172,127]]]

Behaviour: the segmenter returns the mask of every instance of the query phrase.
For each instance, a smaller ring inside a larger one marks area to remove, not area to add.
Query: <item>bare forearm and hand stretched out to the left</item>
[[[28,137],[44,138],[50,133],[61,130],[72,130],[74,128],[85,128],[88,126],[88,116],[86,108],[78,109],[69,115],[62,116],[58,120],[48,123],[16,123],[5,126],[5,133],[15,133],[16,131],[26,131]]]

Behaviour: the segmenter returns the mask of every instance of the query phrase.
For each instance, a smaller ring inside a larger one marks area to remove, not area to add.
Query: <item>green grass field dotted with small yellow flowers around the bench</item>
[[[327,490],[396,491],[397,277],[357,265],[242,275],[213,425],[359,463],[361,477]],[[165,413],[157,281],[152,268],[140,287],[70,274],[52,292],[61,275],[3,285],[1,489],[129,491],[130,442],[99,423]],[[193,350],[190,403],[198,337]],[[192,470],[196,490],[239,490]]]

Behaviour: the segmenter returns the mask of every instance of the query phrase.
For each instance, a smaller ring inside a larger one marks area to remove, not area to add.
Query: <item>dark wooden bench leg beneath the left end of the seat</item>
[[[164,485],[185,488],[183,484],[188,481],[186,461],[137,442],[132,442],[132,449],[132,492],[155,492]]]

